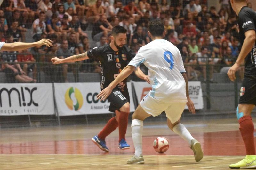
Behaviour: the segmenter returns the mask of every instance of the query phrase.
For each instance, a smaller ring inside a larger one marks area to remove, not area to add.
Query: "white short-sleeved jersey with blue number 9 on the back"
[[[185,69],[176,46],[164,39],[156,39],[141,47],[133,60],[148,67],[152,84],[150,96],[165,102],[187,101],[186,83],[181,74]]]

